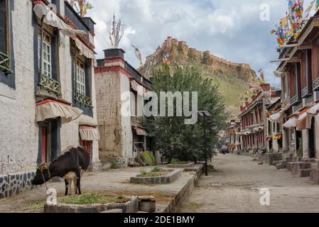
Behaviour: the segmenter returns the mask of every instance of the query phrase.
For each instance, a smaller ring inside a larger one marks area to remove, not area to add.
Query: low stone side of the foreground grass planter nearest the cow
[[[136,213],[139,211],[139,199],[132,196],[130,201],[123,204],[92,204],[92,205],[72,205],[72,204],[58,204],[45,205],[44,213],[101,213],[120,209],[122,213]]]

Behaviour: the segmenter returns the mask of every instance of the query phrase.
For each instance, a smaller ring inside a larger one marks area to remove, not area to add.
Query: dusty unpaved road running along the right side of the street
[[[244,155],[218,155],[216,172],[202,177],[183,212],[319,212],[319,185]],[[270,206],[261,206],[260,189]]]

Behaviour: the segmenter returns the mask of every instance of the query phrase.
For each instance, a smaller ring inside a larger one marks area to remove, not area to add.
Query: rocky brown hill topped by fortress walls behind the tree
[[[152,70],[161,67],[164,53],[168,54],[172,66],[195,66],[201,69],[205,76],[214,77],[214,81],[220,84],[220,92],[225,98],[229,114],[232,118],[239,114],[240,94],[249,90],[250,83],[256,82],[256,72],[250,65],[229,62],[209,51],[201,52],[189,48],[185,41],[168,37],[162,46],[158,46],[152,55],[146,57],[146,62],[139,68],[139,72],[151,77]]]

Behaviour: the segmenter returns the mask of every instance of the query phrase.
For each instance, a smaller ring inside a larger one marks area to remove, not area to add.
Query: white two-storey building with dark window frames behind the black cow
[[[50,2],[0,1],[0,199],[31,187],[37,165],[71,145],[101,166],[94,22]]]

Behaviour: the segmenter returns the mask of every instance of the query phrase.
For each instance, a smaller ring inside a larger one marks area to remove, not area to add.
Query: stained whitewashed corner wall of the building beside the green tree
[[[129,78],[119,71],[102,72],[95,74],[95,84],[101,136],[99,157],[102,162],[115,161],[119,167],[126,167],[133,157],[133,135],[131,117],[121,115],[121,94],[130,91]]]

